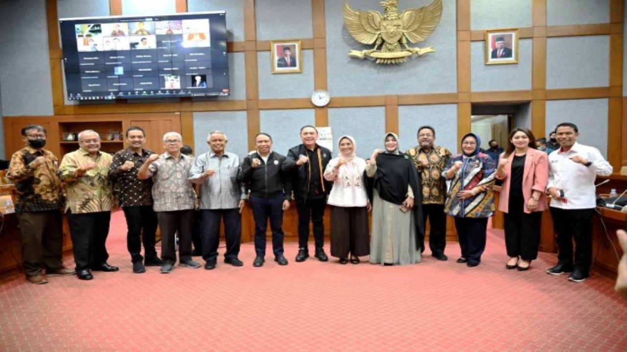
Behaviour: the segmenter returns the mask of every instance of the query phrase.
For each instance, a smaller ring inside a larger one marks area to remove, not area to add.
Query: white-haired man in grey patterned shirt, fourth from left
[[[166,152],[152,154],[137,172],[140,180],[152,177],[153,209],[161,229],[161,273],[168,274],[176,263],[174,237],[179,236],[179,266],[200,267],[192,260],[192,228],[196,193],[187,180],[194,157],[181,153],[183,138],[177,132],[163,135]]]

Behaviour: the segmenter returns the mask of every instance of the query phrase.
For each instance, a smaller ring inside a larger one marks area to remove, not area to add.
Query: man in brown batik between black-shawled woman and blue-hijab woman
[[[444,254],[446,247],[446,214],[444,202],[446,200],[446,181],[442,172],[446,162],[451,158],[450,150],[434,145],[435,130],[430,126],[418,128],[418,145],[409,149],[414,166],[421,175],[423,188],[423,228],[429,219],[429,249],[431,255],[440,261],[446,261]],[[424,251],[424,239],[422,243]]]

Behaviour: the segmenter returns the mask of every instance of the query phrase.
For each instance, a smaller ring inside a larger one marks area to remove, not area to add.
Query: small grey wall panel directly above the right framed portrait
[[[472,0],[470,28],[520,28],[532,26],[532,0]]]

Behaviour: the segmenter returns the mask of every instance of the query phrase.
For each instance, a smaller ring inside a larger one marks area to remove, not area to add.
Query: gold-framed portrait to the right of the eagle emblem
[[[485,31],[485,65],[518,63],[518,29]]]

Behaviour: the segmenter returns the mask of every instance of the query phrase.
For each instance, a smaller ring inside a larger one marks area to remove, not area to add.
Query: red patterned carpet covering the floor
[[[122,212],[112,222],[109,263],[119,272],[45,285],[0,278],[0,351],[627,350],[627,303],[610,279],[545,274],[549,254],[527,272],[505,270],[497,231],[474,268],[455,262],[455,242],[449,261],[427,256],[404,267],[297,263],[288,243],[288,266],[266,257],[255,268],[246,243],[244,267],[219,261],[214,271],[166,275],[133,274]]]

